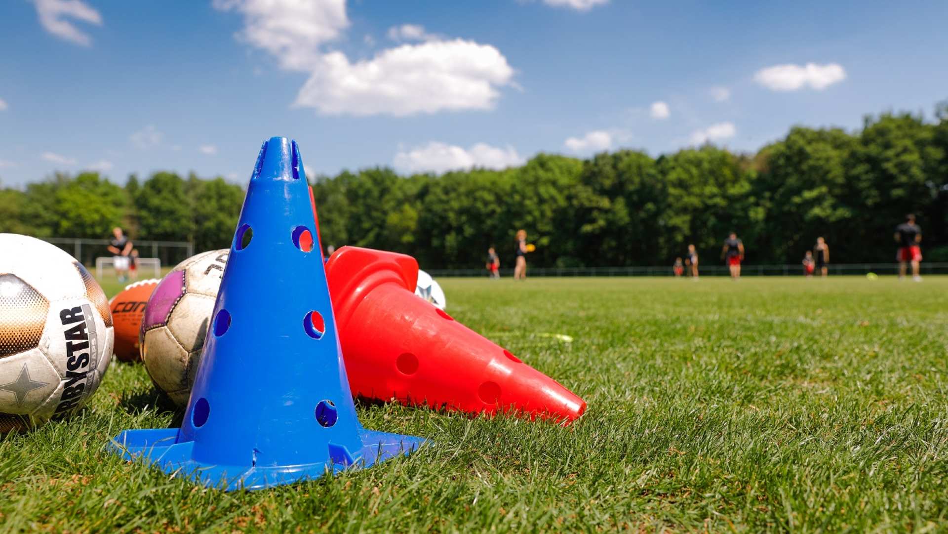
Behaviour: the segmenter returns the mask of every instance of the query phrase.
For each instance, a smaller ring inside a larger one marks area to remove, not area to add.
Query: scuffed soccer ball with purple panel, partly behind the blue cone
[[[229,249],[211,250],[175,266],[145,305],[139,344],[155,387],[185,406],[201,359]]]

